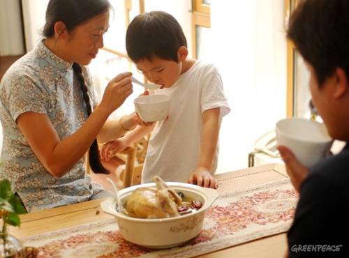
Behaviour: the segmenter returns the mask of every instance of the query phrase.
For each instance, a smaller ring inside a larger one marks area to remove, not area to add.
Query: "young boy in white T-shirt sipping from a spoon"
[[[164,121],[138,126],[102,147],[108,160],[151,132],[142,183],[154,175],[216,188],[212,176],[218,158],[221,119],[230,112],[218,70],[210,63],[188,58],[186,38],[172,15],[153,11],[138,15],[126,32],[128,56],[145,77],[163,85],[157,94],[170,96]]]

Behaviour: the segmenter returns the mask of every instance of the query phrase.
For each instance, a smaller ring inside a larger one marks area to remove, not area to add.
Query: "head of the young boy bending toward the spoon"
[[[169,13],[153,11],[138,15],[126,31],[128,56],[147,79],[171,86],[182,72],[188,55],[186,37]]]

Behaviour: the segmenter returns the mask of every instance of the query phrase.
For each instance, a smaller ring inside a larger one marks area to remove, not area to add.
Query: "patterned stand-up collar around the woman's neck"
[[[51,50],[49,50],[43,43],[43,40],[40,40],[36,50],[38,52],[38,56],[40,56],[40,58],[42,59],[45,59],[45,61],[47,61],[50,66],[55,68],[57,73],[61,76],[64,76],[66,73],[68,73],[68,71],[73,66],[73,63],[69,63],[64,59],[61,59],[61,57],[57,56]]]

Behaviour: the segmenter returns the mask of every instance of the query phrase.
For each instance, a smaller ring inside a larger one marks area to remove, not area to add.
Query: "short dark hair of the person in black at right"
[[[290,19],[288,38],[313,66],[319,86],[335,68],[349,76],[349,0],[303,0]]]

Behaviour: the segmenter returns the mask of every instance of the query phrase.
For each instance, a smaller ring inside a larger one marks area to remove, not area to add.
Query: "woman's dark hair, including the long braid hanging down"
[[[64,22],[66,29],[72,31],[77,25],[107,12],[110,8],[110,2],[107,0],[50,0],[46,10],[43,36],[46,38],[54,36],[54,24],[56,22]],[[73,70],[80,84],[87,114],[90,115],[92,107],[80,64],[73,63]],[[89,165],[95,173],[109,174],[101,164],[97,139],[94,139],[89,149]]]

